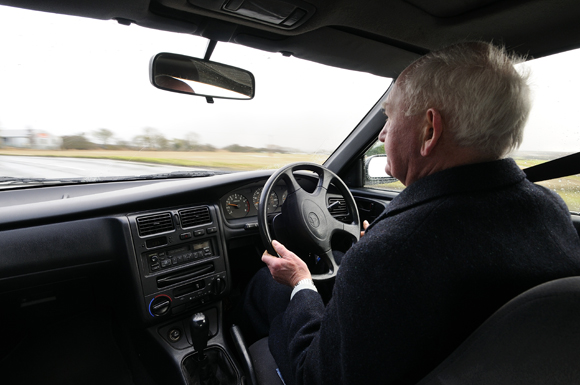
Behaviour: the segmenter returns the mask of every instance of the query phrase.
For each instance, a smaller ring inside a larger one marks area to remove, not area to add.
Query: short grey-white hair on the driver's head
[[[423,56],[403,73],[406,115],[437,109],[457,145],[499,159],[518,148],[531,100],[523,58],[489,43],[459,43]]]

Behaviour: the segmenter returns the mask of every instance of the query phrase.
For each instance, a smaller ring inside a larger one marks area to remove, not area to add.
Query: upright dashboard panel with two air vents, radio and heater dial
[[[225,295],[227,261],[218,220],[212,205],[129,215],[146,321]]]

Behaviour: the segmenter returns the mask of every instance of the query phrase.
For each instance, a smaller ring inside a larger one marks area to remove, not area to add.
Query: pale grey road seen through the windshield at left
[[[111,159],[0,156],[0,177],[78,178],[149,175],[196,170],[199,169]]]

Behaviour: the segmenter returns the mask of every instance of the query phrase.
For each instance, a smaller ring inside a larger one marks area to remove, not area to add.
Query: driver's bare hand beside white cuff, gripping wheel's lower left
[[[308,266],[296,254],[285,248],[278,241],[272,241],[272,246],[282,258],[274,257],[264,251],[262,262],[268,266],[270,274],[272,274],[272,278],[276,282],[294,287],[303,279],[312,279]]]

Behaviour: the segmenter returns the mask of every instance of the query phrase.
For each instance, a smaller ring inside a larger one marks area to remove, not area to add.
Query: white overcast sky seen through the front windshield
[[[23,15],[35,21],[23,22]],[[94,33],[84,38],[87,27]],[[158,90],[148,75],[154,54],[203,57],[205,39],[6,7],[0,7],[0,30],[12,36],[2,39],[0,50],[16,52],[0,63],[4,129],[72,135],[107,128],[130,140],[151,127],[168,139],[195,132],[200,142],[218,147],[276,144],[317,152],[335,148],[390,82],[220,43],[212,60],[252,71],[256,97],[209,105]]]

